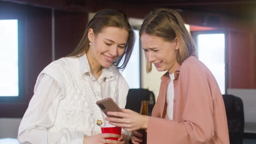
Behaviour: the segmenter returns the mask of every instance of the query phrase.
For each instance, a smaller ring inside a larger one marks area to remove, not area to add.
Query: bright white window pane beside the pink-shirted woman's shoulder
[[[225,34],[199,34],[197,44],[199,60],[211,70],[225,94]]]

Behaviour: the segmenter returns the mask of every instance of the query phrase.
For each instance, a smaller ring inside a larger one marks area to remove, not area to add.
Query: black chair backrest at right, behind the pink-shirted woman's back
[[[245,128],[243,101],[241,98],[231,94],[224,94],[223,100],[226,117],[228,118],[230,144],[242,144],[243,130]]]

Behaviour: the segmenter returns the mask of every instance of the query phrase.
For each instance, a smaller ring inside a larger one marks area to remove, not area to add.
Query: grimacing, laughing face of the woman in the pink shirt
[[[142,34],[141,42],[149,63],[153,63],[158,71],[173,73],[176,65],[176,53],[179,50],[179,41],[166,41],[154,35]]]

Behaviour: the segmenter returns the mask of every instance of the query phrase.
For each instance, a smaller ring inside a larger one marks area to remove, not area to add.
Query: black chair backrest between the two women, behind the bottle
[[[139,113],[141,110],[141,101],[143,100],[148,101],[148,113],[149,116],[151,116],[153,107],[155,105],[155,95],[148,89],[129,89],[125,109],[130,109]]]

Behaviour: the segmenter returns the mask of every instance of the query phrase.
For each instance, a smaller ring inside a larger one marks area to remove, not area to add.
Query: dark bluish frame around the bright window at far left
[[[4,7],[4,6],[3,6]],[[0,118],[22,117],[26,110],[28,100],[26,98],[26,76],[25,76],[25,19],[22,12],[11,11],[13,9],[4,9],[5,13],[0,14],[0,20],[18,20],[18,86],[19,94],[17,97],[0,97]]]

